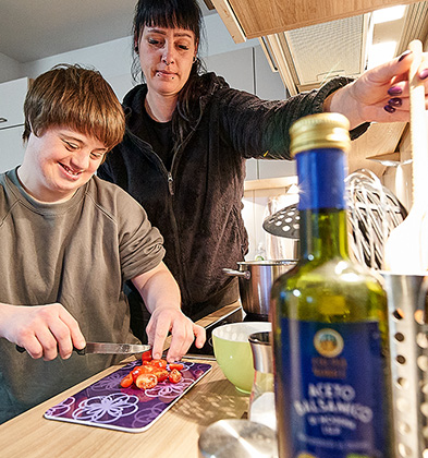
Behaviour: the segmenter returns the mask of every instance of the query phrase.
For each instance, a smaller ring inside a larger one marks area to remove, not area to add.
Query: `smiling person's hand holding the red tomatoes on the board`
[[[181,360],[195,340],[197,348],[205,343],[205,328],[196,325],[191,318],[176,308],[159,308],[151,314],[146,328],[148,341],[152,345],[151,354],[155,359],[162,355],[163,343],[171,332],[171,345],[167,353],[167,361]]]

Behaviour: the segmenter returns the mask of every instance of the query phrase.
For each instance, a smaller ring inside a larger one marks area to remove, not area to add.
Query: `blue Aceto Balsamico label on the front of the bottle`
[[[281,339],[290,456],[387,458],[378,324],[283,318]]]

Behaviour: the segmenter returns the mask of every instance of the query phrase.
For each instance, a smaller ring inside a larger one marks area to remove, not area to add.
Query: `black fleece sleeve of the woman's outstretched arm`
[[[261,100],[236,89],[219,91],[222,129],[233,147],[245,158],[291,159],[289,130],[297,119],[322,112],[326,98],[353,80],[337,77],[319,89],[305,92],[285,100]],[[350,134],[354,140],[369,126],[364,123]]]

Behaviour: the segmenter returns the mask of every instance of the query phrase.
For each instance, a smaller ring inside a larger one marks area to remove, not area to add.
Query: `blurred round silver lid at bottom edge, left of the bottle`
[[[278,458],[273,430],[249,420],[220,420],[199,436],[199,458]]]

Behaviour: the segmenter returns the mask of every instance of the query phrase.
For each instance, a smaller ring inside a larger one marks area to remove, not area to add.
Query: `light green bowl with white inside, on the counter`
[[[252,348],[248,336],[272,330],[271,323],[230,323],[212,330],[215,357],[224,376],[243,393],[250,393],[254,379]]]

